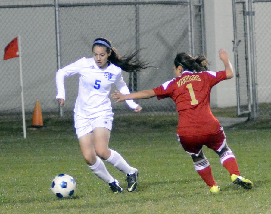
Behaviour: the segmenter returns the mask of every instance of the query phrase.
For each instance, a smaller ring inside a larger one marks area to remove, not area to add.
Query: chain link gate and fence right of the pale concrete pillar
[[[271,0],[233,0],[238,114],[271,116]]]

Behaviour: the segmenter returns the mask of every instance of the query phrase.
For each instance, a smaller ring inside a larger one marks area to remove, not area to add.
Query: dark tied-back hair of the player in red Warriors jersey
[[[174,59],[174,65],[176,68],[178,68],[178,66],[182,66],[184,70],[201,72],[208,70],[209,63],[203,54],[192,57],[186,53],[179,53]]]

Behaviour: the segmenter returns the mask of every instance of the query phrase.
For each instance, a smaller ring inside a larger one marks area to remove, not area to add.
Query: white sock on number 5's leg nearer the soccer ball
[[[96,163],[93,165],[88,165],[89,169],[100,179],[102,179],[104,182],[112,183],[115,181],[115,179],[108,173],[104,162],[99,158],[96,157]]]

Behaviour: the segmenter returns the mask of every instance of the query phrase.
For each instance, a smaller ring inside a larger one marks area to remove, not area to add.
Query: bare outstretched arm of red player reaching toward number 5
[[[148,89],[148,90],[142,90],[135,93],[130,94],[122,94],[119,91],[116,91],[115,93],[111,94],[111,97],[113,99],[117,99],[116,102],[124,101],[127,99],[149,99],[151,97],[156,96],[154,93],[154,90]]]

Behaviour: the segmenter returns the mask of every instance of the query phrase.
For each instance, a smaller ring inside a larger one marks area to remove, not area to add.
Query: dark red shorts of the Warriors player
[[[179,136],[179,141],[182,144],[182,148],[192,154],[199,154],[202,146],[206,145],[208,148],[218,151],[221,149],[224,141],[226,142],[226,136],[223,131],[223,127],[220,128],[220,132],[216,134],[209,134],[195,137]]]

